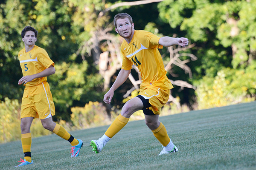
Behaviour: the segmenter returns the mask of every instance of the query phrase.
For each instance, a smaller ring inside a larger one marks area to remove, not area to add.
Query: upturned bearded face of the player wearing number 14
[[[116,32],[123,38],[129,39],[132,38],[134,23],[130,23],[128,18],[116,20]]]

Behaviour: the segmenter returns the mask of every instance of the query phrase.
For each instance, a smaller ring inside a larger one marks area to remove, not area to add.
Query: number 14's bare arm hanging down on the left
[[[129,74],[131,73],[131,70],[124,70],[121,69],[121,71],[119,71],[118,76],[116,77],[116,81],[114,82],[114,84],[111,86],[111,88],[109,89],[109,91],[104,95],[104,99],[103,101],[107,104],[110,104],[113,96],[114,96],[114,91],[119,88],[120,85],[122,85],[125,80],[128,78]]]

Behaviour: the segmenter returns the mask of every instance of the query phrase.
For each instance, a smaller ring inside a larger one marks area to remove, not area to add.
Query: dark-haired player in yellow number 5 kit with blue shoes
[[[47,76],[55,73],[54,62],[43,48],[35,45],[37,34],[38,31],[30,26],[26,26],[21,32],[25,48],[18,53],[23,74],[18,84],[26,86],[20,108],[21,144],[25,158],[24,160],[20,159],[21,163],[16,167],[33,164],[30,152],[32,142],[30,126],[35,118],[41,119],[45,129],[70,142],[72,145],[71,157],[79,156],[83,145],[80,139],[75,139],[62,126],[52,121],[52,116],[55,115],[55,106],[47,83]]]

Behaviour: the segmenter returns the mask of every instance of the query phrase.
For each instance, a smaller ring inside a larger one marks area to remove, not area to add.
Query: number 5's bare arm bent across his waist
[[[23,83],[25,85],[27,82],[30,82],[33,79],[47,77],[54,73],[55,73],[55,68],[51,65],[51,66],[49,66],[49,68],[45,69],[44,71],[41,71],[40,73],[21,77],[21,79],[19,79],[19,81],[18,81],[18,85],[21,85]]]

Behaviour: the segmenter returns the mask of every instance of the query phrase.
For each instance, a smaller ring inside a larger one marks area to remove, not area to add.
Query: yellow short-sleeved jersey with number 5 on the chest
[[[37,45],[34,45],[34,48],[27,53],[25,48],[23,48],[18,53],[18,57],[23,76],[37,74],[49,68],[51,65],[54,66],[54,62],[50,59],[47,52]],[[26,83],[26,86],[34,86],[46,81],[47,77],[41,77]]]

